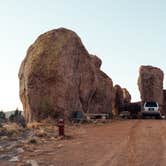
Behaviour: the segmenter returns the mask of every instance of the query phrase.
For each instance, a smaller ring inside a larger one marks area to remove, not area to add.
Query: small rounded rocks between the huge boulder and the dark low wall
[[[122,105],[131,102],[131,95],[127,89],[121,88],[119,85],[114,86],[114,94],[113,114],[116,116],[120,113]]]

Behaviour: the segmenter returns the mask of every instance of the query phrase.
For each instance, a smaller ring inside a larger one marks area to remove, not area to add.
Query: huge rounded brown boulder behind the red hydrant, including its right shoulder
[[[60,28],[39,36],[19,71],[25,119],[111,112],[113,83],[100,66],[73,31]]]

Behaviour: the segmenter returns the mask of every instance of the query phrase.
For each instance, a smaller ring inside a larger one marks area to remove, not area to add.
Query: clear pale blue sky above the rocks
[[[133,101],[140,100],[140,65],[166,71],[165,0],[1,0],[0,109],[22,108],[20,64],[41,33],[58,27],[74,30]]]

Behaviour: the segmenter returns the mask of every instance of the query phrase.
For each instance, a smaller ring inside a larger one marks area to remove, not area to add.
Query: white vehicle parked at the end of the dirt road
[[[158,118],[161,117],[160,111],[159,111],[159,105],[157,102],[151,101],[151,102],[145,102],[144,103],[144,110],[142,112],[143,116],[156,116]]]

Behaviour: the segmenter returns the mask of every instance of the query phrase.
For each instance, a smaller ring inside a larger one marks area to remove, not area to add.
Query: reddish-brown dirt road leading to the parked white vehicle
[[[42,166],[165,166],[166,121],[127,120],[67,130],[71,139],[22,154]]]

